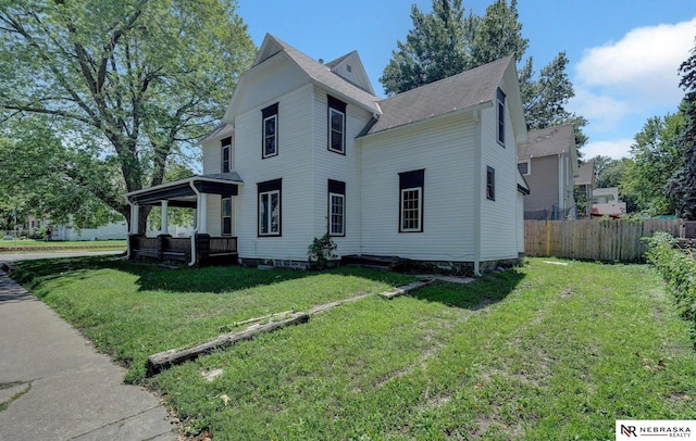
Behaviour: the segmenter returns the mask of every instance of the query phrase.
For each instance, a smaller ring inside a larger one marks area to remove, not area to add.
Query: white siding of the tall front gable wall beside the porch
[[[269,78],[273,83],[278,78]],[[263,85],[259,87],[263,88]],[[240,257],[307,260],[312,240],[312,87],[257,103],[235,119],[235,168],[244,180],[235,198],[236,235]],[[261,159],[261,109],[278,103],[276,156]],[[257,184],[283,179],[281,237],[258,237]]]

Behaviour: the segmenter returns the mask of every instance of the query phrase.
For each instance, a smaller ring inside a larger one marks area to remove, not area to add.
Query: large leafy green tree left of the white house
[[[129,220],[123,193],[162,182],[251,62],[235,10],[234,0],[0,0],[2,135],[18,117],[51,116],[65,189]]]

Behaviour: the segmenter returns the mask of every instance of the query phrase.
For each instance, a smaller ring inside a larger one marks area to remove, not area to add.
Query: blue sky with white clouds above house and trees
[[[483,15],[492,1],[463,5]],[[411,4],[432,9],[432,0],[238,0],[237,13],[257,46],[270,33],[314,59],[357,50],[383,96],[378,79],[412,27]],[[576,94],[569,109],[589,121],[586,159],[627,156],[648,117],[676,111],[678,68],[696,37],[694,0],[519,0],[518,11],[536,72],[568,54]]]

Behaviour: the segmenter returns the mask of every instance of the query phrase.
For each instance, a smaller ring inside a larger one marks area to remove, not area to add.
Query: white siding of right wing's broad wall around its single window
[[[362,253],[473,261],[474,131],[458,115],[362,141]],[[399,232],[399,173],[424,168],[423,232]]]

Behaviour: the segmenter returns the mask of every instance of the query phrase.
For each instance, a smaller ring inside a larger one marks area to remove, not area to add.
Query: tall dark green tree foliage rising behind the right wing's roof
[[[433,11],[423,13],[411,7],[413,28],[406,42],[384,70],[380,81],[387,94],[395,94],[513,54],[522,62],[529,40],[522,36],[517,0],[495,0],[484,16],[464,15],[461,0],[433,0]],[[518,77],[530,129],[573,124],[579,147],[587,138],[582,127],[587,121],[566,109],[574,96],[560,52],[536,76],[532,58],[526,59]]]

